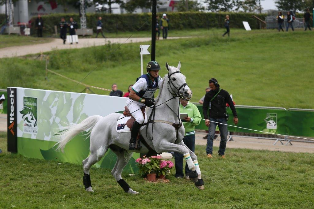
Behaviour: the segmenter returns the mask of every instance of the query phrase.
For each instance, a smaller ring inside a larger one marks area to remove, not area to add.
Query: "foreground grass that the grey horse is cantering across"
[[[6,150],[6,133],[0,133]],[[314,157],[249,149],[228,149],[220,159],[196,146],[205,190],[185,179],[147,183],[140,176],[122,177],[140,192],[128,195],[110,171],[91,169],[95,193],[84,191],[82,166],[0,154],[0,208],[313,208]]]

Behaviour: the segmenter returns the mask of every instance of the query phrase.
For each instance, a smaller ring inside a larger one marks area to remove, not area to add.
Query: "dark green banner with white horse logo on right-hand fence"
[[[203,106],[196,104],[203,118]],[[229,125],[233,124],[231,109],[227,108],[229,114]],[[245,107],[236,106],[239,123],[238,127],[254,129],[251,131],[243,128],[228,127],[231,132],[241,133],[278,133],[291,136],[314,137],[314,111],[311,110],[286,110],[285,108],[271,107]],[[204,121],[196,129],[207,130]]]

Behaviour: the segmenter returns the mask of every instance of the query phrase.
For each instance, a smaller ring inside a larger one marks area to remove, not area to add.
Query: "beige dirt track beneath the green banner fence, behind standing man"
[[[7,115],[0,114],[0,131],[7,132]],[[206,145],[207,140],[203,139],[205,133],[197,132],[195,144]],[[314,143],[304,143],[304,142],[292,142],[291,145],[282,145],[280,142],[273,145],[274,140],[268,139],[257,139],[257,138],[241,138],[234,137],[234,141],[227,142],[228,148],[246,148],[246,149],[258,149],[258,150],[271,150],[280,152],[308,152],[314,153]],[[214,146],[219,147],[220,139],[214,140]],[[285,143],[284,143],[285,144]],[[206,151],[204,149],[204,154]],[[216,154],[216,153],[215,153]],[[214,155],[215,155],[214,154]]]

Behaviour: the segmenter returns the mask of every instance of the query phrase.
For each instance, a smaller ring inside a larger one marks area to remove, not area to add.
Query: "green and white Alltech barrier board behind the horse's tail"
[[[89,138],[78,134],[65,147],[64,153],[52,148],[53,135],[68,123],[80,123],[92,115],[106,116],[124,110],[127,98],[95,94],[47,91],[39,89],[7,89],[8,151],[25,157],[82,164],[89,155]],[[126,139],[128,140],[128,139]],[[134,173],[138,168],[133,154],[123,171]],[[116,155],[109,149],[96,167],[112,169]]]

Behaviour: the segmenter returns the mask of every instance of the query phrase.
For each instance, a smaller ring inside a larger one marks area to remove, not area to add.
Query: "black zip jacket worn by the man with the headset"
[[[217,88],[215,91],[213,90],[208,91],[205,94],[204,103],[203,103],[204,118],[208,119],[208,113],[209,113],[209,118],[225,118],[226,103],[229,104],[232,110],[233,116],[234,117],[237,116],[236,107],[234,106],[228,91],[221,89],[220,92],[217,94],[217,96],[213,99],[213,101],[210,102],[210,100],[215,96],[215,94],[218,91],[219,91],[219,88]],[[210,110],[208,110],[209,102],[211,103]]]

